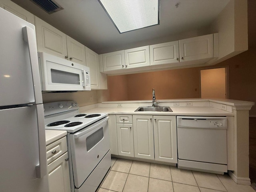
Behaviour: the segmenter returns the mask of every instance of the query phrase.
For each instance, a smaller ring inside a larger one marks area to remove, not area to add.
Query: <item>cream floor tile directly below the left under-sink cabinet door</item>
[[[130,174],[149,177],[150,163],[133,161]]]

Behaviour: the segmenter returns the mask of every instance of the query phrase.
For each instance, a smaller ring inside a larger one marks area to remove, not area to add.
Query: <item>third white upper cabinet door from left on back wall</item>
[[[179,41],[150,45],[150,65],[179,62]]]

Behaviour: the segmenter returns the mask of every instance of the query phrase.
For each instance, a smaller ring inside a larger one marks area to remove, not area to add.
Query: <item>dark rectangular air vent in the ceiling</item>
[[[54,0],[31,0],[31,1],[34,2],[36,5],[40,6],[48,14],[52,14],[54,12],[64,9]]]

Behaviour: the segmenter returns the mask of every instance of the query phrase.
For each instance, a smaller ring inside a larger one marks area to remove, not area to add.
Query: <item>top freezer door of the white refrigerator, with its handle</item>
[[[0,8],[0,106],[42,103],[34,25]]]

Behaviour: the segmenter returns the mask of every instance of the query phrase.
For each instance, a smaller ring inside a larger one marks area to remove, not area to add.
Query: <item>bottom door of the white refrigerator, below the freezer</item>
[[[43,104],[0,110],[0,191],[48,192],[48,175],[37,178],[40,162],[46,170],[45,135],[38,139],[38,110]],[[44,128],[44,125],[43,125]],[[40,133],[42,135],[42,132]],[[38,146],[42,142],[44,147]]]

